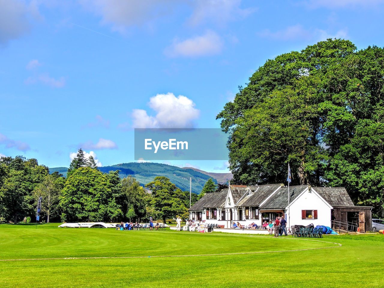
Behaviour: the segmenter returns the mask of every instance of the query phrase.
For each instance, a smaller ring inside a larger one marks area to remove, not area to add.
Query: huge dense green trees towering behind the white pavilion
[[[343,186],[384,207],[384,49],[328,39],[268,60],[217,115],[239,184]]]

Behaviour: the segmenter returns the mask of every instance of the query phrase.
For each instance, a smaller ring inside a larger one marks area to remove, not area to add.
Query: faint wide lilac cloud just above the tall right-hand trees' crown
[[[321,29],[306,29],[302,25],[297,24],[288,26],[282,30],[271,32],[266,29],[258,33],[259,36],[273,40],[294,41],[294,40],[313,40],[320,41],[327,38],[346,38],[345,30],[338,30],[336,33],[329,33]]]

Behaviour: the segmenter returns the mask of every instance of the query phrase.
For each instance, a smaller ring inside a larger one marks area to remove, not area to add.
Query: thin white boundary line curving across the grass
[[[184,231],[185,232],[185,231]],[[162,233],[178,233],[178,232],[162,232]],[[180,233],[181,234],[181,233]],[[201,233],[183,233],[184,235],[202,235]],[[204,233],[205,234],[205,233]],[[254,236],[254,235],[244,235],[244,234],[217,234],[217,233],[209,233],[206,235],[225,235],[225,236],[242,236],[242,237],[257,237],[257,238],[265,238],[265,239],[272,239],[272,237],[265,237],[265,236]],[[276,238],[274,238],[276,239]],[[278,238],[277,238],[278,239]],[[276,239],[276,240],[277,240]],[[305,248],[305,249],[293,249],[293,250],[278,250],[278,251],[258,251],[258,252],[238,252],[238,253],[217,253],[217,254],[197,254],[197,255],[155,255],[155,256],[118,256],[118,257],[68,257],[68,258],[30,258],[30,259],[0,259],[0,262],[2,261],[36,261],[36,260],[78,260],[78,259],[129,259],[129,258],[171,258],[171,257],[208,257],[208,256],[225,256],[225,255],[245,255],[245,254],[261,254],[261,253],[281,253],[281,252],[298,252],[298,251],[308,251],[308,250],[319,250],[319,249],[331,249],[331,248],[338,248],[343,245],[336,242],[329,242],[329,241],[320,241],[320,240],[313,240],[313,239],[303,239],[303,238],[283,238],[280,239],[286,239],[286,240],[306,240],[306,241],[314,241],[314,242],[322,242],[322,243],[329,243],[334,244],[337,246],[331,246],[331,247],[318,247],[318,248]]]

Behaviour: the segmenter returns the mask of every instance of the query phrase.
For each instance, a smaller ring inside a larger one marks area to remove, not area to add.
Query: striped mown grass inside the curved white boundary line
[[[147,257],[280,251],[276,238],[100,228],[4,229],[0,259]],[[301,241],[303,242],[303,241]],[[324,242],[289,242],[283,250],[329,247]],[[21,257],[23,256],[23,257]]]

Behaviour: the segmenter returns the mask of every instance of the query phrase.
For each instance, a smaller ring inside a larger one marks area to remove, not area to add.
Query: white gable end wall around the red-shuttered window
[[[331,226],[331,208],[313,189],[308,189],[290,205],[290,222],[287,225],[316,225]],[[317,210],[317,219],[301,219],[301,210]],[[288,213],[288,211],[286,211]],[[287,215],[288,218],[288,215]],[[288,221],[288,219],[286,219]]]

